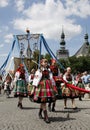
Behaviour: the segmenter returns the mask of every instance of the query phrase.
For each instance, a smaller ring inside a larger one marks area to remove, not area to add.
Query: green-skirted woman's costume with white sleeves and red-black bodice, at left
[[[15,79],[14,79],[15,87],[14,87],[14,96],[27,96],[27,84],[26,84],[26,76],[25,76],[25,70],[21,71],[19,68],[15,73]]]

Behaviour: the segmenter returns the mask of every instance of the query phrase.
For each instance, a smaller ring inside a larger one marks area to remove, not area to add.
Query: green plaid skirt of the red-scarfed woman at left
[[[27,97],[27,86],[25,80],[17,80],[13,92],[15,97]]]

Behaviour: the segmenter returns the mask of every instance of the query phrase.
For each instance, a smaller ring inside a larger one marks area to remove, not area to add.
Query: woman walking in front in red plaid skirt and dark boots
[[[44,121],[50,123],[47,114],[46,103],[55,100],[56,92],[53,89],[55,82],[50,69],[48,68],[47,59],[41,60],[40,69],[35,73],[33,83],[34,86],[34,102],[40,103],[39,118],[42,119],[42,111],[44,113]]]

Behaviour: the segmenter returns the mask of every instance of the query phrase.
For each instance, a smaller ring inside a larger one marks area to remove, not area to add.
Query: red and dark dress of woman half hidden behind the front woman
[[[56,89],[58,94],[56,94],[57,99],[62,99],[62,90],[61,90],[61,83],[63,82],[60,78],[60,71],[56,65],[51,65],[50,70],[53,74],[53,78],[56,83]]]

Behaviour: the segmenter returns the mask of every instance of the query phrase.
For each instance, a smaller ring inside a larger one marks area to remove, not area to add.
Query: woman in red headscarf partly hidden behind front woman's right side
[[[61,91],[61,88],[60,88],[60,84],[61,84],[61,80],[60,80],[60,70],[56,64],[56,60],[55,59],[52,59],[51,60],[51,65],[50,65],[50,70],[53,74],[53,78],[54,78],[54,81],[56,83],[56,88],[57,88],[57,91],[58,91],[58,95],[56,95],[56,97],[58,98],[61,98],[62,97],[62,91]],[[51,103],[48,104],[48,109],[49,111],[55,111],[55,105],[56,105],[56,100],[55,102],[52,103],[52,108],[51,108]]]

